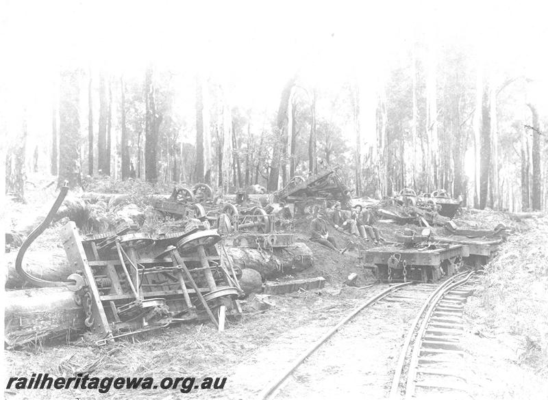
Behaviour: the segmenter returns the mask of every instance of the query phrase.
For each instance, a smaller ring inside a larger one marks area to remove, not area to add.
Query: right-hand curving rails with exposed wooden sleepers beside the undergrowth
[[[434,291],[417,313],[403,343],[390,399],[451,395],[469,399],[464,351],[460,348],[462,312],[473,291],[475,271],[453,276]]]

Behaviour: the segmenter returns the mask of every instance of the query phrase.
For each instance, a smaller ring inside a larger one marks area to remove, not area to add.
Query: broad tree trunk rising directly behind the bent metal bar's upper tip
[[[59,106],[59,178],[58,185],[69,181],[70,187],[81,185],[79,143],[79,70],[61,72]]]

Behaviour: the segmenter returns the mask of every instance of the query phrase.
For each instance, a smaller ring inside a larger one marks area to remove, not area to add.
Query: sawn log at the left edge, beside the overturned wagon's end
[[[60,343],[85,329],[84,309],[66,288],[6,291],[4,304],[4,341],[9,347]]]

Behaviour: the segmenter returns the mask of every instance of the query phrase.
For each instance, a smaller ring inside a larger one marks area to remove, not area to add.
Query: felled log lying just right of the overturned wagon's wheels
[[[263,280],[295,274],[312,267],[313,263],[312,250],[304,243],[275,248],[272,252],[232,246],[225,246],[225,249],[234,266],[255,269]]]

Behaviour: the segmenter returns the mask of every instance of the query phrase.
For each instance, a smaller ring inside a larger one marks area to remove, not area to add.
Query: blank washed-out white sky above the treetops
[[[75,66],[141,76],[153,62],[199,72],[225,82],[230,103],[275,111],[296,70],[311,85],[334,88],[358,77],[375,92],[406,44],[426,40],[469,44],[501,77],[508,70],[532,77],[531,96],[548,114],[542,4],[6,0],[0,38],[12,62],[0,67],[2,86],[12,116],[30,103],[32,135],[49,129],[51,77]]]

